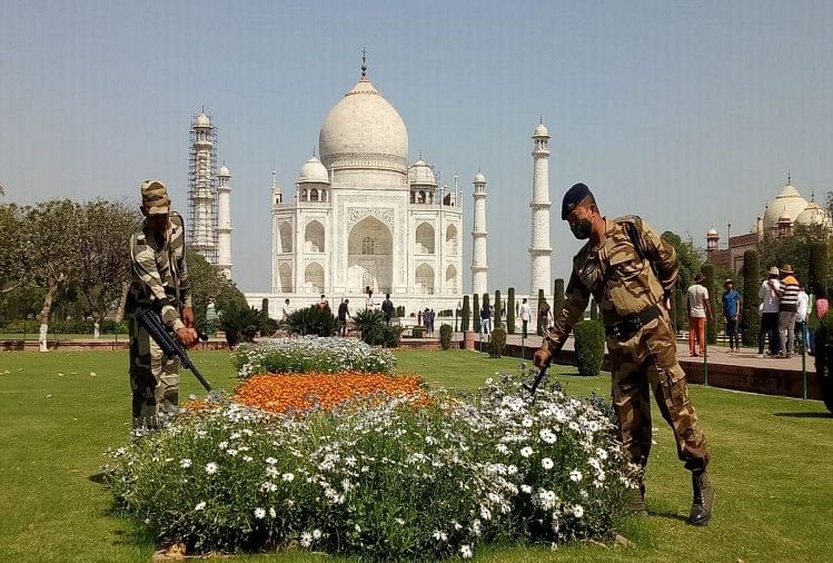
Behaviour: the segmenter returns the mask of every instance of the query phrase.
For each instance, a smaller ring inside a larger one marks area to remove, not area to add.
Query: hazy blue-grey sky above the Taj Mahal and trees
[[[578,245],[572,184],[607,215],[698,244],[747,231],[787,170],[833,189],[833,2],[116,2],[0,0],[0,185],[7,200],[138,201],[143,178],[187,210],[201,106],[231,169],[234,277],[270,286],[271,170],[291,200],[329,109],[369,77],[442,180],[488,179],[489,288],[528,287],[538,118],[549,142],[553,276]]]

